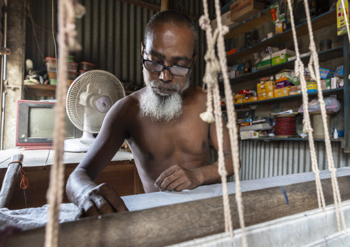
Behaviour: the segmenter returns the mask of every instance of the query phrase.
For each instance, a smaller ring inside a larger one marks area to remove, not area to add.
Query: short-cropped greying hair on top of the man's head
[[[147,43],[147,36],[150,34],[151,30],[156,23],[167,23],[168,25],[175,25],[177,27],[187,27],[192,31],[194,35],[194,53],[196,53],[196,45],[198,43],[198,29],[194,21],[187,17],[187,15],[177,12],[175,10],[167,10],[163,12],[158,12],[154,14],[154,17],[150,19],[145,28],[144,43]]]

